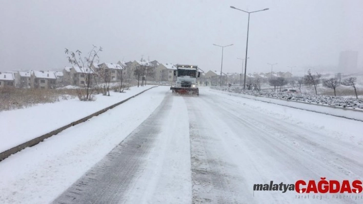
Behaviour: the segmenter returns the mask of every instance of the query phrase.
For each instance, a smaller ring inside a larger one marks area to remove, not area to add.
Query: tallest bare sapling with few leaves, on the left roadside
[[[77,65],[80,67],[81,71],[83,72],[83,76],[86,82],[86,93],[80,92],[78,98],[83,101],[90,101],[93,100],[94,97],[92,95],[92,90],[90,89],[92,75],[94,74],[92,70],[92,65],[95,60],[98,61],[98,53],[102,52],[102,47],[97,48],[93,46],[92,50],[85,56],[82,57],[82,52],[76,50],[75,52],[69,51],[67,48],[65,49],[65,53],[68,56],[68,61],[71,64]]]

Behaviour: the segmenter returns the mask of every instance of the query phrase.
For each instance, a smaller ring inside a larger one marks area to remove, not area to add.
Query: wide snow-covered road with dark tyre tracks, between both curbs
[[[253,185],[362,180],[362,132],[359,121],[158,87],[1,162],[0,202],[361,203]]]

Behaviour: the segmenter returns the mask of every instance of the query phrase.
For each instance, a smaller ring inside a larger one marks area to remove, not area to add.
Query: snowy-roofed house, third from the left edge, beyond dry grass
[[[50,71],[33,71],[30,76],[32,88],[55,88],[57,77]]]

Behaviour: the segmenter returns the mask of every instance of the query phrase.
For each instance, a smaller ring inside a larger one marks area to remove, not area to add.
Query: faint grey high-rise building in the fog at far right
[[[339,71],[342,73],[358,72],[358,52],[344,51],[339,55]]]

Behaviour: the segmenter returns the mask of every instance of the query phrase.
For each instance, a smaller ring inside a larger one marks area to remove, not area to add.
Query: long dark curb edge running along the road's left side
[[[140,92],[140,93],[138,93],[138,94],[136,94],[136,95],[134,95],[134,96],[131,96],[131,97],[129,97],[129,98],[127,98],[127,99],[123,100],[123,101],[120,101],[120,102],[115,103],[115,104],[113,104],[113,105],[111,105],[111,106],[109,106],[109,107],[106,107],[106,108],[102,109],[102,110],[99,110],[99,111],[97,111],[97,112],[94,112],[93,114],[91,114],[91,115],[89,115],[89,116],[86,116],[85,118],[82,118],[82,119],[79,119],[79,120],[77,120],[77,121],[74,121],[74,122],[72,122],[72,123],[70,123],[70,124],[68,124],[68,125],[65,125],[65,126],[60,127],[60,128],[58,128],[58,129],[56,129],[56,130],[53,130],[53,131],[48,132],[48,133],[46,133],[46,134],[43,134],[43,135],[42,135],[42,136],[40,136],[40,137],[34,138],[34,139],[32,139],[32,140],[30,140],[30,141],[28,141],[28,142],[25,142],[25,143],[23,143],[23,144],[20,144],[20,145],[15,146],[15,147],[13,147],[13,148],[11,148],[11,149],[8,149],[8,150],[6,150],[6,151],[3,151],[3,152],[1,152],[1,153],[0,153],[0,162],[1,162],[1,161],[3,161],[5,158],[9,157],[11,154],[15,154],[15,153],[17,153],[17,152],[19,152],[19,151],[21,151],[21,150],[23,150],[23,149],[27,148],[27,147],[32,147],[32,146],[34,146],[34,145],[37,145],[37,144],[39,144],[39,143],[43,142],[45,139],[50,138],[50,137],[52,137],[53,135],[56,135],[56,134],[58,134],[59,132],[62,132],[63,130],[65,130],[65,129],[69,128],[69,127],[72,127],[72,126],[77,125],[77,124],[79,124],[79,123],[83,123],[83,122],[85,122],[85,121],[89,120],[90,118],[92,118],[92,117],[94,117],[94,116],[98,116],[98,115],[100,115],[100,114],[103,114],[103,113],[104,113],[104,112],[106,112],[107,110],[112,109],[112,108],[114,108],[114,107],[116,107],[116,106],[118,106],[118,105],[120,105],[120,104],[122,104],[122,103],[125,103],[126,101],[128,101],[128,100],[130,100],[130,99],[132,99],[132,98],[134,98],[134,97],[136,97],[136,96],[138,96],[138,95],[140,95],[140,94],[142,94],[142,93],[146,92],[147,90],[150,90],[151,88],[155,88],[155,87],[158,87],[158,86],[152,86],[152,87],[150,87],[150,88],[148,88],[148,89],[146,89],[146,90],[143,90],[142,92]]]

